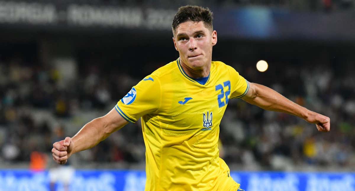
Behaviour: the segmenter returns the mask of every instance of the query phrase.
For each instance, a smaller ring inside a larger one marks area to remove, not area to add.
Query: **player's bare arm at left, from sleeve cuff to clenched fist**
[[[65,164],[72,154],[94,147],[127,123],[113,108],[108,114],[88,122],[74,137],[66,137],[54,143],[53,160],[58,164]]]

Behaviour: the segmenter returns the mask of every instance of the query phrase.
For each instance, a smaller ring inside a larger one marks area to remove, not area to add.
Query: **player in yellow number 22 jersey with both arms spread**
[[[219,124],[230,99],[241,98],[330,130],[327,116],[310,111],[274,90],[245,80],[231,66],[212,61],[217,32],[212,12],[180,7],[174,16],[173,42],[180,57],[144,77],[105,116],[87,123],[72,138],[53,144],[53,158],[64,164],[127,123],[142,121],[146,145],[146,190],[238,190],[219,158]]]

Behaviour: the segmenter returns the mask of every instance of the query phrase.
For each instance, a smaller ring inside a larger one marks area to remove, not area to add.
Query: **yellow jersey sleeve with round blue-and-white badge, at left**
[[[160,99],[160,82],[157,77],[149,75],[133,86],[115,108],[125,120],[135,123],[141,116],[157,111]]]

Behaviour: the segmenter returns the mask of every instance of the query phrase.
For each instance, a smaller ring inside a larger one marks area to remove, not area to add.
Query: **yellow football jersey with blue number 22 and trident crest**
[[[133,88],[116,110],[130,122],[142,117],[147,191],[239,188],[228,177],[217,144],[228,100],[249,89],[239,73],[215,61],[208,81],[201,85],[184,73],[178,59]]]

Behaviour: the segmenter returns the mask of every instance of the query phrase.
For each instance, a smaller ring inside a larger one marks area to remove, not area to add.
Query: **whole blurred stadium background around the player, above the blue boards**
[[[190,4],[214,12],[213,60],[331,118],[331,132],[320,133],[297,117],[232,100],[220,125],[221,157],[231,170],[353,171],[354,3],[0,1],[0,168],[55,169],[55,141],[105,115],[137,82],[179,57],[171,22]],[[256,69],[259,60],[268,63],[265,72]],[[69,165],[144,172],[140,122],[73,155]]]

